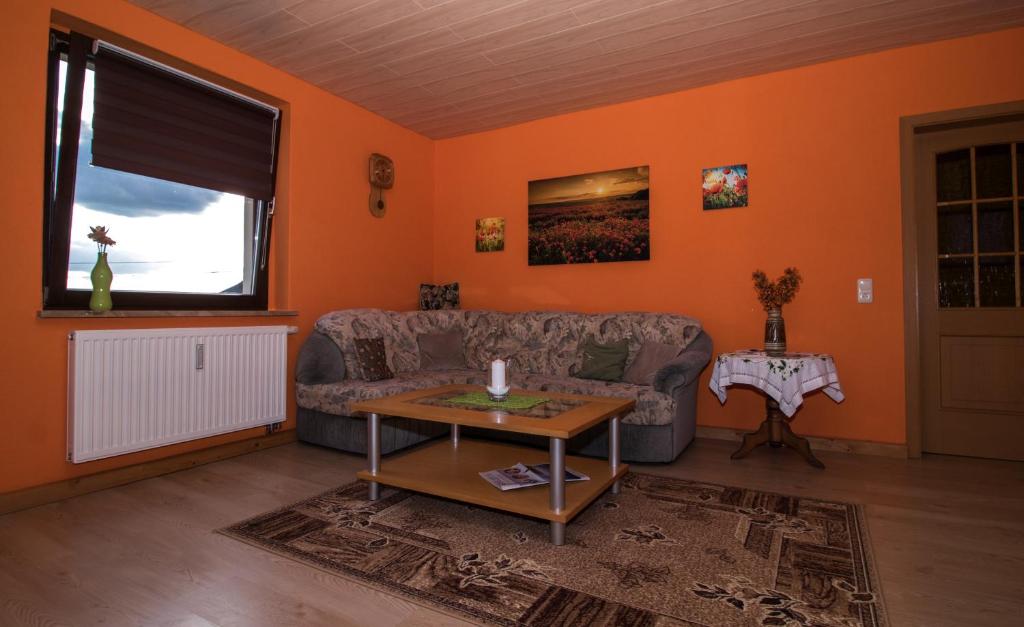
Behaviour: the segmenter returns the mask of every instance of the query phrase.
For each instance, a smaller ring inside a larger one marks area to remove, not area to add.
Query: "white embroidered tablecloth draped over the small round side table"
[[[711,390],[725,403],[725,388],[734,383],[761,389],[778,403],[786,416],[793,416],[804,402],[804,394],[815,389],[821,389],[836,403],[845,399],[830,354],[786,352],[776,358],[764,350],[738,350],[718,356]]]

